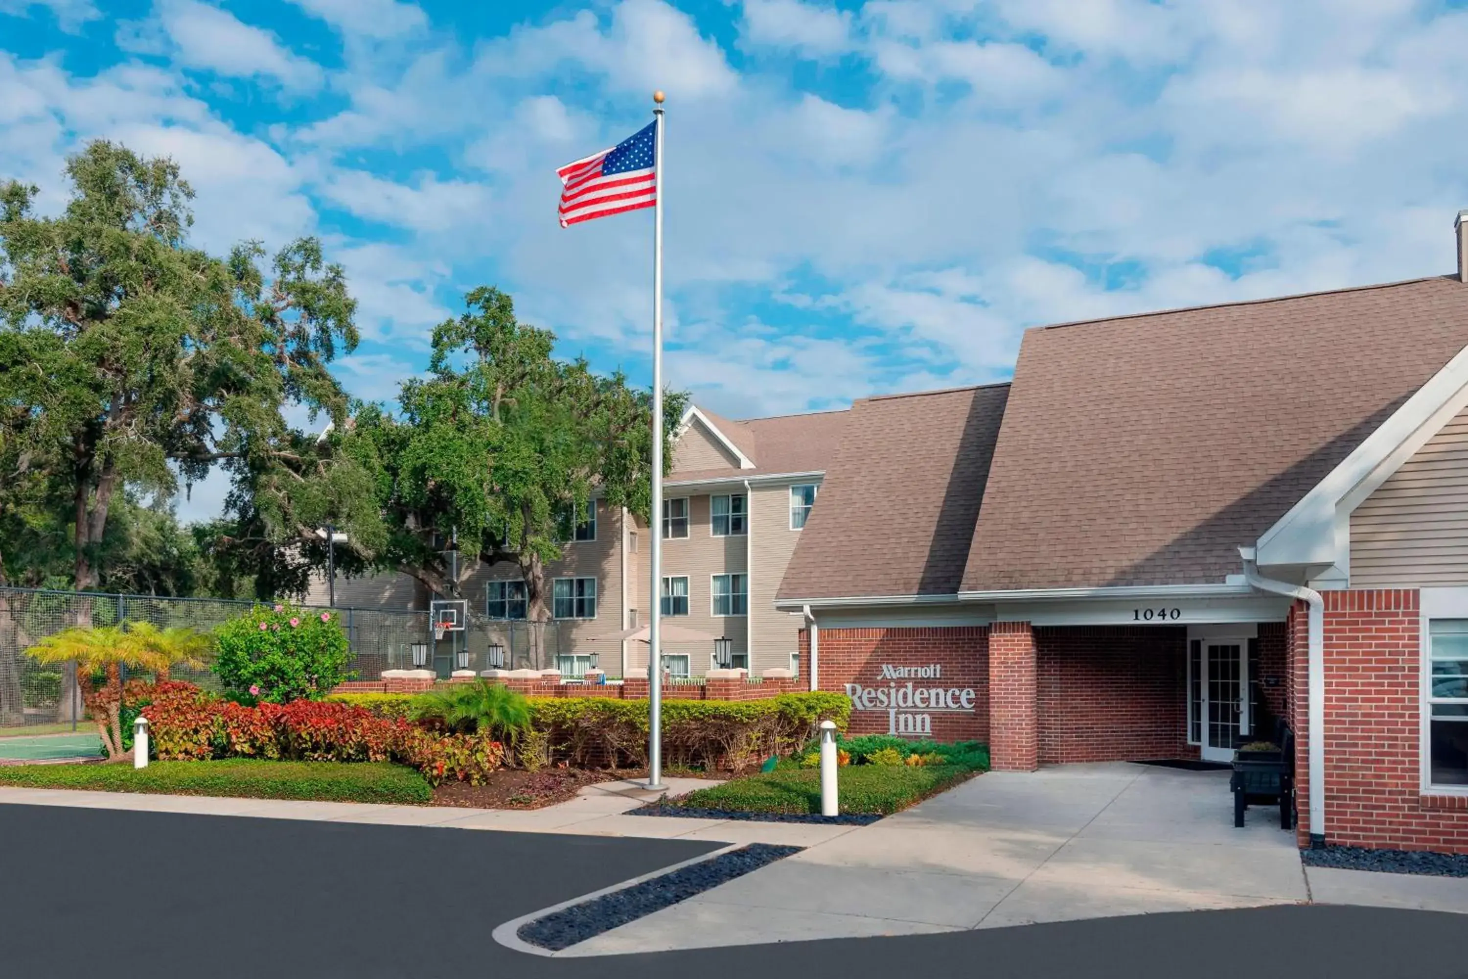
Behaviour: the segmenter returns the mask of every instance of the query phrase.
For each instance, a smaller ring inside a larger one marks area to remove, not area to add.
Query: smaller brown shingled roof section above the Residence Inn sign
[[[951,594],[1009,385],[851,405],[780,599]]]

